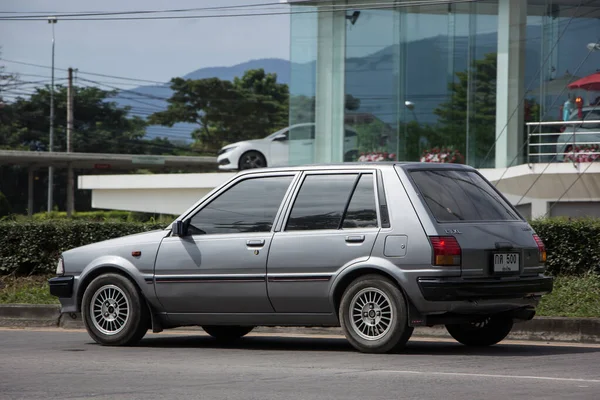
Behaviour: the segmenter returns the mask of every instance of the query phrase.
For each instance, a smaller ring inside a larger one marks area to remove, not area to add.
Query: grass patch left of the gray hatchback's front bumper
[[[50,295],[48,287],[52,276],[0,277],[0,304],[58,304],[58,298]]]

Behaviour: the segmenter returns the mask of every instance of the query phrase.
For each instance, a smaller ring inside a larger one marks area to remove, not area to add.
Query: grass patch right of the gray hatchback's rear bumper
[[[552,293],[542,298],[536,315],[600,318],[600,275],[556,278]]]

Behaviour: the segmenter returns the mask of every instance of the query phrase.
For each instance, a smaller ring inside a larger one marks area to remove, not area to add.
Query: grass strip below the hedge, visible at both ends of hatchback
[[[0,277],[0,304],[58,304],[48,288],[53,276]],[[600,275],[556,278],[554,291],[542,298],[536,315],[600,318]]]

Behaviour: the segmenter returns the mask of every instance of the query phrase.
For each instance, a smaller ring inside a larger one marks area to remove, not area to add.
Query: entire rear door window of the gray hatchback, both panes
[[[372,174],[361,176],[357,182],[358,177],[358,174],[308,175],[285,230],[377,227]]]

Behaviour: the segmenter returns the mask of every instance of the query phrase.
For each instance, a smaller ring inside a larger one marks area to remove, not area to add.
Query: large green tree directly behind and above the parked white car
[[[216,152],[221,146],[262,138],[288,124],[288,87],[276,74],[248,70],[233,82],[218,78],[171,80],[167,110],[150,116],[151,124],[198,125],[197,146]]]

